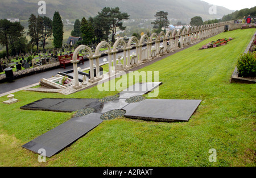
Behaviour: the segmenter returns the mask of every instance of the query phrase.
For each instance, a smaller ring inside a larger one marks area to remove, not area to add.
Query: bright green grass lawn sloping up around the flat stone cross
[[[20,106],[41,98],[104,98],[119,92],[99,92],[97,87],[69,96],[20,91],[14,93],[19,102],[13,105],[2,104],[6,96],[1,97],[0,165],[255,166],[255,85],[229,82],[237,57],[254,32],[221,33],[139,70],[159,71],[163,85],[156,98],[202,100],[189,122],[104,121],[46,163],[39,163],[38,155],[22,145],[68,121],[73,113],[20,110]],[[228,45],[198,50],[229,37],[235,39]],[[212,148],[217,151],[216,163],[208,160]]]

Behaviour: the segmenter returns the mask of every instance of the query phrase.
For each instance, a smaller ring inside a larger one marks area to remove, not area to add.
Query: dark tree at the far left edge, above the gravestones
[[[9,59],[9,43],[20,39],[24,34],[24,27],[20,22],[10,22],[7,19],[0,19],[0,44],[6,47],[6,56]]]

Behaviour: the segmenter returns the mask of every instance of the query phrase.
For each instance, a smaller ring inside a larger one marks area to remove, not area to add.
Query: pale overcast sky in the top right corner
[[[255,0],[203,0],[212,5],[223,6],[229,10],[241,10],[256,6]]]

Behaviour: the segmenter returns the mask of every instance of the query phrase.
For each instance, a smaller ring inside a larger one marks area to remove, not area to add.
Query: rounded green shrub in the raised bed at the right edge
[[[241,77],[256,76],[256,52],[244,53],[238,57],[237,69]]]

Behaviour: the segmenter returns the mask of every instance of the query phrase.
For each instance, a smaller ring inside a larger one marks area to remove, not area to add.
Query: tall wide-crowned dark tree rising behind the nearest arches
[[[127,13],[121,13],[119,7],[104,7],[104,9],[102,9],[97,16],[104,24],[104,27],[109,26],[109,31],[112,31],[112,43],[114,43],[114,36],[117,32],[117,28],[119,28],[120,30],[125,30],[126,27],[123,27],[122,20],[128,20],[130,15],[128,15]]]

